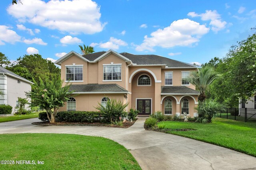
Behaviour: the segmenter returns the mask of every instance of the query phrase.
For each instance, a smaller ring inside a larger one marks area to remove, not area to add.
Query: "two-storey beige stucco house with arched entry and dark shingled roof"
[[[83,56],[71,51],[55,63],[61,66],[61,78],[72,82],[70,90],[79,94],[60,111],[93,111],[98,102],[104,105],[108,98],[116,98],[129,102],[127,110],[138,109],[140,115],[197,115],[200,93],[182,79],[196,70],[195,65],[113,50]]]

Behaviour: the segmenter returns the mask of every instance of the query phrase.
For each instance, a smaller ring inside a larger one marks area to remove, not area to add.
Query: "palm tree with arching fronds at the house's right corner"
[[[190,72],[190,75],[185,79],[196,86],[196,90],[200,92],[198,100],[203,102],[207,98],[206,92],[209,90],[210,84],[218,77],[220,77],[220,74],[215,72],[214,67],[206,65],[197,68],[197,71]]]

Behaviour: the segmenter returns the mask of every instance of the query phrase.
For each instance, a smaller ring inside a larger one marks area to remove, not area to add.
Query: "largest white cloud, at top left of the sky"
[[[23,4],[23,5],[22,5]],[[102,31],[100,6],[92,0],[22,0],[7,8],[20,22],[29,22],[70,34],[94,34]]]

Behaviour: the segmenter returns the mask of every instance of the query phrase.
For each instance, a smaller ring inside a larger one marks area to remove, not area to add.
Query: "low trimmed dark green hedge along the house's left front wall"
[[[94,122],[100,120],[100,112],[98,111],[59,111],[55,117],[56,121],[66,122]],[[39,113],[39,119],[48,121],[47,113]]]

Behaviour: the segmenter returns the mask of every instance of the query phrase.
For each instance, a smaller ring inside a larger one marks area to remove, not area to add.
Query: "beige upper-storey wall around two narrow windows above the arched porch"
[[[161,85],[164,86],[165,85],[165,72],[168,72],[168,71],[172,71],[172,84],[173,86],[181,86],[182,85],[182,82],[181,82],[181,73],[182,71],[192,71],[192,70],[196,70],[196,69],[162,69],[162,74],[161,74],[161,80],[162,80],[162,83]],[[190,86],[186,86],[188,88],[192,88],[192,89],[196,89],[196,87],[192,84],[190,84]]]

